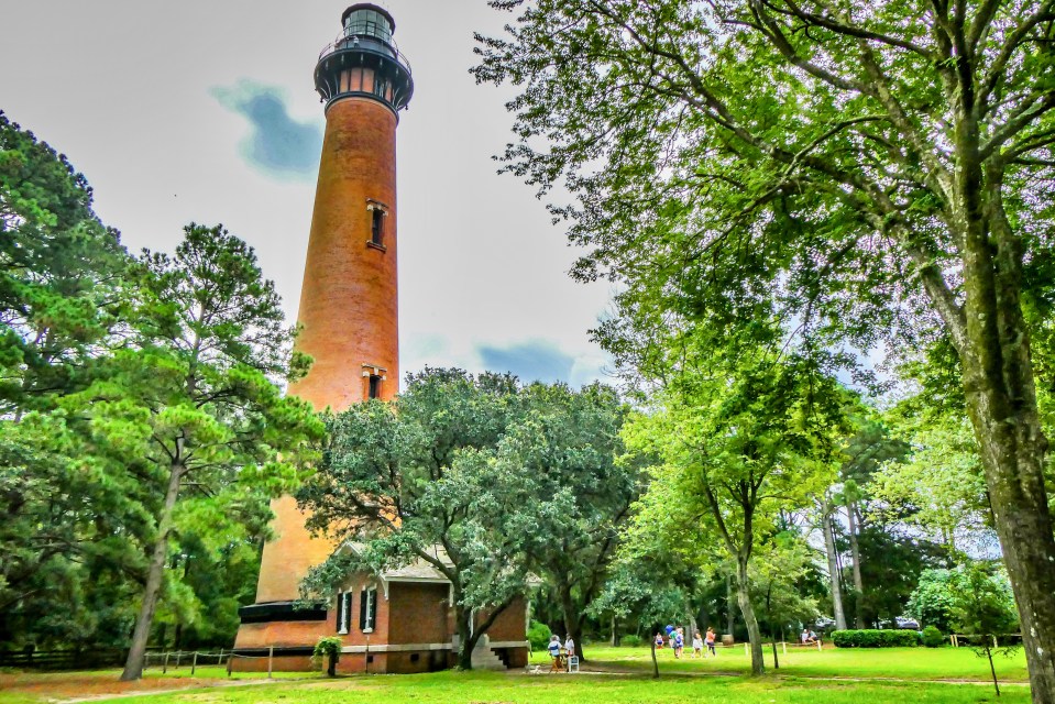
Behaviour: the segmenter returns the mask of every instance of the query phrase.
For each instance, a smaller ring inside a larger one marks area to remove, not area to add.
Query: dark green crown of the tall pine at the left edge
[[[53,408],[121,314],[129,262],[65,155],[0,112],[0,413]],[[79,382],[84,384],[84,380]]]

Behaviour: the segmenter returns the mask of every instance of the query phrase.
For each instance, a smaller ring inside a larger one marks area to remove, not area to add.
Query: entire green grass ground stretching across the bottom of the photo
[[[650,676],[648,648],[594,647],[582,674],[525,674],[523,672],[439,672],[421,675],[369,675],[326,679],[318,673],[276,673],[272,682],[261,675],[226,670],[189,668],[162,675],[151,670],[129,685],[117,681],[119,671],[77,673],[0,673],[0,704],[42,704],[135,693],[135,704],[391,704],[422,702],[451,704],[980,704],[994,702],[991,685],[935,683],[926,680],[985,681],[987,663],[967,649],[922,648],[883,650],[795,650],[780,653],[781,668],[760,679],[744,676],[749,659],[741,648],[719,650],[705,660],[675,661],[660,651],[659,681]],[[772,656],[767,656],[771,666]],[[547,662],[545,654],[537,654]],[[1029,702],[1024,658],[998,661],[1000,676],[1011,684],[999,700]],[[845,678],[845,679],[838,679]],[[898,681],[888,681],[891,678]],[[870,681],[869,681],[870,680]],[[156,693],[152,693],[156,692]]]

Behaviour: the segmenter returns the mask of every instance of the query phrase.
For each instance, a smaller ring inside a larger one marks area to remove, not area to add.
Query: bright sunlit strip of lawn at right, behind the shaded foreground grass
[[[586,648],[587,666],[604,670],[650,671],[649,648]],[[989,662],[969,648],[833,648],[823,651],[813,648],[789,648],[784,654],[778,647],[782,675],[824,678],[893,678],[909,680],[989,680]],[[750,658],[743,646],[719,648],[716,658],[674,660],[670,650],[657,652],[660,672],[743,673],[750,671]],[[535,661],[548,662],[545,653],[536,653]],[[1024,682],[1029,679],[1025,654],[1016,649],[1010,658],[993,659],[997,676],[1001,680]],[[773,666],[772,651],[766,648],[766,667]]]

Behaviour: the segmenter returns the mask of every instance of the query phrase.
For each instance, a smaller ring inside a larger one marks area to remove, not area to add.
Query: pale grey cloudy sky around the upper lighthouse
[[[325,117],[312,70],[350,2],[0,0],[0,109],[66,154],[132,251],[188,222],[246,240],[296,318]],[[476,86],[485,0],[386,0],[415,92],[397,131],[400,369],[607,378],[604,284],[531,187],[497,175],[508,87]]]

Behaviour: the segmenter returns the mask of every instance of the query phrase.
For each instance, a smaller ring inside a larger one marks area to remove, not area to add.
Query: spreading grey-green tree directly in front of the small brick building
[[[523,540],[536,517],[518,501],[521,469],[494,461],[519,395],[509,375],[426,369],[392,404],[329,418],[319,471],[297,501],[310,529],[364,544],[315,568],[303,591],[328,595],[349,573],[422,560],[451,583],[458,663],[472,669],[480,638],[527,586]]]

